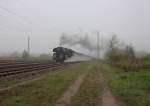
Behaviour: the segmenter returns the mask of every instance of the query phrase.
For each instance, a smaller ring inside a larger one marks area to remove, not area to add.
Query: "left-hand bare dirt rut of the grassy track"
[[[63,96],[58,100],[55,106],[68,106],[70,104],[71,98],[77,93],[80,85],[83,82],[85,73],[80,75],[79,78],[69,87]]]

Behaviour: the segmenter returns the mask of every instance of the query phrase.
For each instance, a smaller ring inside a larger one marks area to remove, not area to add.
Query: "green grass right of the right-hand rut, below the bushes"
[[[125,72],[99,63],[106,82],[123,106],[150,106],[150,70]]]

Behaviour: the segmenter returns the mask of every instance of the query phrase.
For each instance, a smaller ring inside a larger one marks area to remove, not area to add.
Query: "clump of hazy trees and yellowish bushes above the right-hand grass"
[[[105,53],[105,60],[113,66],[126,71],[150,69],[149,54],[142,54],[142,56],[139,56],[132,45],[122,44],[116,36],[113,36],[109,40],[108,49]]]

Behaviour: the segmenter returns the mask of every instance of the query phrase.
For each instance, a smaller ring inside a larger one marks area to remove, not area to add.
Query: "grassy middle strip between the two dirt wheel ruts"
[[[100,103],[101,81],[99,70],[92,67],[77,94],[72,98],[71,106],[97,106]]]

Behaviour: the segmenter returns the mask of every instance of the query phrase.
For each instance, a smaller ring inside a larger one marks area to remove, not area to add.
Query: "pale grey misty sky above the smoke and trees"
[[[0,0],[0,52],[48,53],[63,32],[116,34],[150,52],[150,0]],[[91,37],[94,35],[91,35]]]

